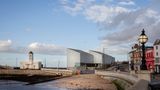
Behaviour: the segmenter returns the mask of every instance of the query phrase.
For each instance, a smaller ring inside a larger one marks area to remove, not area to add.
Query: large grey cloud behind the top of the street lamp
[[[103,46],[108,46],[111,48],[116,46],[115,49],[121,52],[123,50],[121,50],[122,47],[119,47],[120,45],[128,44],[129,46],[129,44],[131,43],[138,43],[137,38],[140,35],[141,30],[143,28],[146,30],[146,34],[149,37],[149,43],[153,43],[157,38],[160,38],[159,37],[160,15],[158,12],[150,8],[149,9],[146,8],[124,15],[126,15],[125,19],[123,19],[124,16],[120,15],[116,17],[117,19],[113,20],[113,23],[115,24],[114,25],[115,29],[120,29],[118,28],[118,24],[120,23],[117,22],[123,21],[123,23],[125,23],[126,26],[121,28],[120,31],[109,33],[106,36],[104,36],[101,39]],[[131,48],[128,47],[128,50],[130,49]],[[114,49],[111,52],[114,52]],[[123,53],[125,54],[125,52]],[[118,53],[117,51],[117,54],[120,53]]]

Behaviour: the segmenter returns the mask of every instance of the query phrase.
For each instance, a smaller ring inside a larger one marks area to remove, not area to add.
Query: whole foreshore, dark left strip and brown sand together
[[[66,90],[117,90],[116,85],[111,80],[103,79],[95,74],[73,76],[0,75],[0,80],[26,82],[24,85],[49,85]]]

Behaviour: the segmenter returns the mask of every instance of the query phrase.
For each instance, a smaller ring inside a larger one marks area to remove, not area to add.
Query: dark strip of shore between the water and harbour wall
[[[25,85],[38,84],[38,83],[48,82],[48,81],[65,78],[65,77],[69,77],[69,76],[0,74],[0,80],[13,80],[13,81],[26,82],[27,84]]]

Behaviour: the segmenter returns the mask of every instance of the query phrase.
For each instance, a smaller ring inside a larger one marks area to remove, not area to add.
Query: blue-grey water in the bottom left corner
[[[43,85],[25,85],[24,82],[11,80],[0,80],[0,90],[67,90],[53,86]]]

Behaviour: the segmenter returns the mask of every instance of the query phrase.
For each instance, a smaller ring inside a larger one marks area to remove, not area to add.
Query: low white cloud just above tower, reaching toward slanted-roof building
[[[50,55],[64,55],[66,49],[61,46],[57,46],[54,44],[45,44],[34,42],[28,46],[29,50],[32,50],[35,53],[39,54],[50,54]]]

